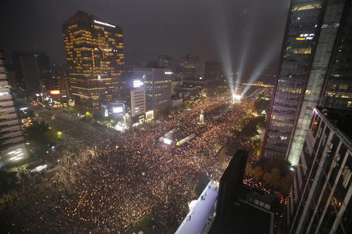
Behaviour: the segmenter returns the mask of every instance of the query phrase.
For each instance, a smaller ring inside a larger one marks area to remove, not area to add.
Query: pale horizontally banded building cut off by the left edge
[[[0,48],[0,167],[17,163],[28,156],[21,121],[5,73],[5,62]]]

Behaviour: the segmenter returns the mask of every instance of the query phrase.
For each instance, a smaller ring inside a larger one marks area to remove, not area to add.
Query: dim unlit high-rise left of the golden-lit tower
[[[45,84],[52,80],[49,56],[43,52],[14,51],[12,60],[17,71],[17,82],[28,95],[44,93]]]

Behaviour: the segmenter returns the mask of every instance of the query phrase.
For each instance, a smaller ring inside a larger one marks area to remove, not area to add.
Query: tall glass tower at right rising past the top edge
[[[339,67],[336,58],[348,61],[338,54],[341,43],[346,43],[342,29],[349,23],[350,4],[347,0],[291,1],[263,156],[280,157],[297,165],[313,108],[325,86],[331,84],[326,83],[327,79],[338,78],[334,72]]]

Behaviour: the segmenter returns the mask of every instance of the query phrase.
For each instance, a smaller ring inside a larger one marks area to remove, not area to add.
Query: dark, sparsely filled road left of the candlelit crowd
[[[117,135],[115,130],[108,130],[104,126],[91,124],[89,121],[83,121],[76,115],[66,113],[62,109],[51,110],[43,107],[34,107],[33,110],[38,113],[52,128],[56,128],[65,134],[65,137],[72,138],[76,141],[82,141],[86,145],[94,145],[107,137]],[[52,120],[54,115],[55,119]]]

